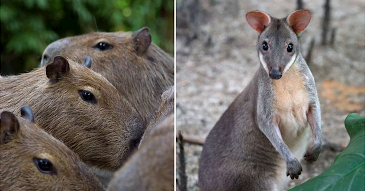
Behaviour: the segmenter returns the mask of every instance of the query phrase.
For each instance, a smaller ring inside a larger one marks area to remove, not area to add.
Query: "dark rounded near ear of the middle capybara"
[[[62,76],[69,72],[69,63],[63,56],[55,56],[53,62],[46,66],[46,75],[53,83],[57,83]]]

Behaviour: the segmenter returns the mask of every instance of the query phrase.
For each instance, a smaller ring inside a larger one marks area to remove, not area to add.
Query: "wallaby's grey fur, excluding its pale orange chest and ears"
[[[295,65],[303,77],[301,79],[309,97],[309,106],[305,106],[308,107],[308,125],[303,128],[310,126],[314,135],[314,146],[308,146],[303,155],[304,159],[313,162],[318,158],[322,144],[320,105],[314,77],[300,53],[298,36],[288,26],[286,18],[270,18],[270,25],[259,35],[257,51],[261,51],[262,41],[270,40],[270,51],[263,57],[264,61],[270,65],[268,68],[279,67],[284,71],[291,60],[285,43],[293,43],[296,60],[289,70]],[[291,151],[281,138],[283,132],[274,120],[277,115],[274,96],[273,79],[261,64],[253,79],[223,113],[205,140],[199,161],[201,191],[279,190],[283,185],[277,182],[277,168],[283,162],[287,176],[298,178],[301,173],[299,161],[303,156],[296,158],[295,151]],[[311,120],[314,123],[310,123]],[[291,130],[287,126],[281,128]],[[299,130],[296,134],[302,136],[303,132]]]

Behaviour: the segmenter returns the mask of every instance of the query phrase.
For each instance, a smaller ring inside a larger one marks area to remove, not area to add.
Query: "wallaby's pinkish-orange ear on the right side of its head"
[[[287,16],[287,23],[289,27],[293,28],[295,34],[299,34],[301,31],[307,28],[311,21],[311,12],[308,10],[294,11]]]

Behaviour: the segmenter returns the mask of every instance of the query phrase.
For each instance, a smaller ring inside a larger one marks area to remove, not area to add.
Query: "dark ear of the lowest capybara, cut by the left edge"
[[[3,111],[0,115],[0,145],[11,141],[12,135],[20,130],[16,116],[9,111]]]

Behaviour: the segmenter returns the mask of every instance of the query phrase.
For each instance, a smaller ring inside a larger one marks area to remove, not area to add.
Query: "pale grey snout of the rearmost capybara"
[[[46,66],[53,61],[53,57],[58,55],[62,49],[65,48],[70,42],[66,39],[54,41],[50,43],[43,51],[41,64],[39,67]]]

